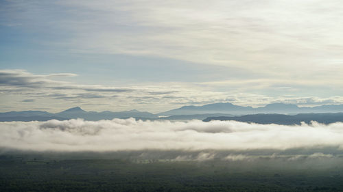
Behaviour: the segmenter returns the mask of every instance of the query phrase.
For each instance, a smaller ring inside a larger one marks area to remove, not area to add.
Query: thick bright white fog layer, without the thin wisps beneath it
[[[123,150],[343,150],[343,123],[329,125],[247,124],[243,122],[137,121],[114,119],[1,122],[0,147],[33,151]],[[211,154],[204,154],[211,156]],[[228,157],[239,158],[239,156]],[[242,157],[243,158],[243,157]]]

